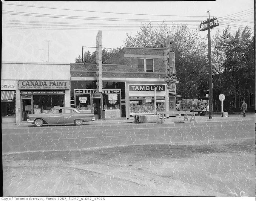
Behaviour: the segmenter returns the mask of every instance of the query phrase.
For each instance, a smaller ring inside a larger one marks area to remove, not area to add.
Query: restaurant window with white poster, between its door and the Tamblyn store
[[[103,110],[120,109],[120,94],[103,94]]]

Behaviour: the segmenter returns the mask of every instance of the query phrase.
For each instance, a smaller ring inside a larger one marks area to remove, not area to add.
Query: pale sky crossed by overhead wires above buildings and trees
[[[217,17],[217,30],[231,32],[248,26],[254,34],[254,0],[161,1],[161,2],[23,2],[2,1],[2,62],[72,63],[78,55],[95,51],[102,30],[102,47],[124,46],[126,33],[136,35],[143,23],[165,21],[187,24],[207,42],[199,24]],[[86,47],[85,47],[86,46]]]

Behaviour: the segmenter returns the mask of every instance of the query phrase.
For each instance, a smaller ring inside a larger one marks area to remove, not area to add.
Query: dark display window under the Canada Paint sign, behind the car
[[[63,107],[64,95],[34,95],[34,113],[46,113],[52,107]]]

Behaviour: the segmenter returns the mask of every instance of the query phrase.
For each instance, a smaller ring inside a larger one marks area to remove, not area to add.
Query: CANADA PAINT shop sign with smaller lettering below
[[[20,90],[68,90],[69,81],[19,80]]]

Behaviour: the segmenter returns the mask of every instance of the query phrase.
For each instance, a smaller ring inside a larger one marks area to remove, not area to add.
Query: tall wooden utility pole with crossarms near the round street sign
[[[208,10],[209,18],[207,21],[204,21],[200,24],[200,31],[208,30],[208,65],[209,65],[209,119],[213,118],[213,75],[211,69],[211,28],[219,25],[218,21],[215,23],[214,21],[217,18],[210,19],[210,10]],[[201,27],[201,26],[204,27]],[[207,26],[206,26],[207,25]]]

